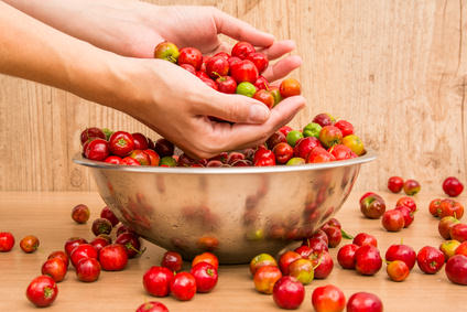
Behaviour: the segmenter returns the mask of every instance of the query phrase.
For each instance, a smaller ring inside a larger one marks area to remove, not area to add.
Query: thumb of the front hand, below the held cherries
[[[198,105],[197,112],[239,123],[263,123],[270,116],[269,108],[259,100],[221,93],[213,93],[213,96],[207,97]]]

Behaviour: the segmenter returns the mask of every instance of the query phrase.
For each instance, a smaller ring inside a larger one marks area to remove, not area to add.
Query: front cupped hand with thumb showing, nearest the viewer
[[[269,110],[256,99],[216,92],[167,61],[118,60],[126,69],[117,75],[119,84],[110,106],[139,119],[195,158],[258,146],[305,105],[302,96],[294,96]],[[235,123],[211,121],[208,116]]]

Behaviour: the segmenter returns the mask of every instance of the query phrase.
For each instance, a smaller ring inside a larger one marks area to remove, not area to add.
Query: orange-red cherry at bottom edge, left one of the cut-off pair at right
[[[316,312],[341,312],[346,308],[346,297],[333,284],[317,287],[312,294],[312,304]]]

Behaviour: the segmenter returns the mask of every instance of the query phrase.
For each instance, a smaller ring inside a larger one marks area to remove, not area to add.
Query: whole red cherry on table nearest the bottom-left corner
[[[51,305],[58,294],[55,281],[47,276],[36,277],[26,289],[26,297],[35,306],[44,308]]]

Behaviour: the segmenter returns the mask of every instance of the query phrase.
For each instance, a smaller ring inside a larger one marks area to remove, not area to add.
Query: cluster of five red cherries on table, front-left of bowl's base
[[[143,276],[143,286],[154,297],[171,293],[181,301],[191,300],[196,292],[209,292],[218,279],[219,261],[210,252],[196,256],[189,272],[182,272],[182,257],[175,251],[164,254],[161,266],[151,267]]]

